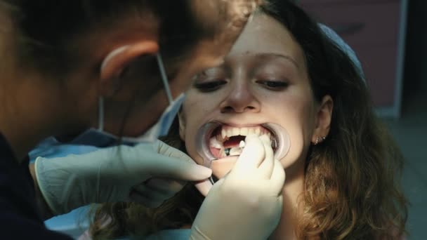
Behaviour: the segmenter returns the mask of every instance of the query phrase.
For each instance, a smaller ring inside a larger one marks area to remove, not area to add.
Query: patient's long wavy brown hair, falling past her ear
[[[364,79],[348,55],[294,4],[270,0],[259,12],[281,22],[303,49],[315,100],[324,95],[334,100],[329,136],[310,147],[306,159],[298,239],[398,239],[407,220],[400,189],[403,158],[374,113]],[[164,140],[185,152],[177,123]],[[104,204],[95,212],[91,233],[97,239],[191,225],[202,200],[188,185],[155,209]],[[107,226],[105,217],[111,219]]]

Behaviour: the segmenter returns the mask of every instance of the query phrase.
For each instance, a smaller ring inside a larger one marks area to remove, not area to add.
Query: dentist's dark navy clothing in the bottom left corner
[[[70,239],[46,229],[35,201],[28,157],[18,163],[11,146],[0,133],[0,238]]]

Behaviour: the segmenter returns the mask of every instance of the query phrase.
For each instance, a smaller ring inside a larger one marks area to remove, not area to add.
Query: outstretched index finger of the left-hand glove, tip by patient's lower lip
[[[156,159],[155,163],[147,168],[140,169],[141,172],[147,171],[153,177],[173,178],[178,180],[199,181],[209,178],[212,174],[211,168],[206,168],[183,159],[175,159],[169,156],[162,156]]]

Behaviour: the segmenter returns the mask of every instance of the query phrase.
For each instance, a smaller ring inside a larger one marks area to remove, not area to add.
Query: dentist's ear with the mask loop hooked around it
[[[119,88],[121,72],[143,55],[155,55],[159,51],[157,41],[143,40],[110,51],[100,67],[100,91],[112,95]]]

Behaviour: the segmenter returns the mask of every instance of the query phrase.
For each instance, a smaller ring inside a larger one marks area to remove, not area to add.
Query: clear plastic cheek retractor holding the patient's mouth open
[[[199,156],[202,157],[203,166],[206,166],[208,168],[211,168],[212,161],[217,160],[216,156],[214,156],[213,153],[211,152],[211,147],[212,147],[211,138],[214,137],[213,132],[217,131],[218,128],[220,128],[221,126],[222,124],[218,122],[209,122],[208,124],[204,124],[204,126],[202,126],[197,132],[197,135],[195,138],[196,140],[195,146],[196,146],[197,154],[199,154]],[[272,149],[275,152],[275,159],[280,160],[284,158],[284,156],[286,156],[286,154],[289,152],[289,148],[291,146],[289,134],[287,133],[287,131],[278,124],[268,123],[268,124],[262,124],[261,126],[267,129],[271,135],[270,139],[271,139]],[[245,137],[246,135],[243,135],[243,136]],[[218,142],[216,142],[216,144],[218,144]],[[242,141],[240,142],[238,147],[243,149],[244,145],[245,145],[245,142]],[[227,152],[230,153],[231,150],[230,149],[224,149],[224,150],[226,155],[229,156],[230,154],[227,154]],[[212,184],[214,183],[212,177],[210,178],[210,181]]]

